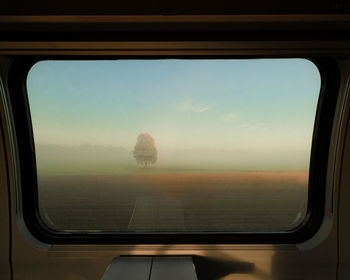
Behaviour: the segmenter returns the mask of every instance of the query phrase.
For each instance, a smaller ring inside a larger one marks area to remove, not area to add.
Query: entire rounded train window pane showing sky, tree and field
[[[68,232],[283,232],[307,212],[305,59],[41,61],[39,212]]]

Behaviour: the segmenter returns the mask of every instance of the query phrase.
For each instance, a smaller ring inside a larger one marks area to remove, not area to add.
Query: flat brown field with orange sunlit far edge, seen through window
[[[308,172],[41,176],[40,213],[56,230],[281,231],[305,217]]]

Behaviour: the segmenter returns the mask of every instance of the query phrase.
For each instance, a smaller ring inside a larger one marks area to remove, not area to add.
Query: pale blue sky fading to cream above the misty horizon
[[[308,168],[320,84],[305,59],[42,61],[27,77],[37,150],[132,151],[147,132],[160,163],[209,151],[291,169]]]

